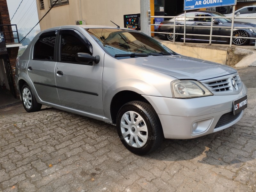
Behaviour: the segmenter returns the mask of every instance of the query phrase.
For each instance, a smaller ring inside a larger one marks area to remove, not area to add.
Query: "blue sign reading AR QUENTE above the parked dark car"
[[[236,0],[184,0],[184,10],[235,5]]]

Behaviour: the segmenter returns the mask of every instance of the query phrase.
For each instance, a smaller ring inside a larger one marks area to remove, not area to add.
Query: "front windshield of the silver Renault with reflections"
[[[126,54],[131,54],[133,57],[160,53],[175,54],[155,39],[137,31],[111,28],[89,28],[85,30],[105,52],[117,59],[124,59],[123,56]],[[119,58],[120,55],[123,56]]]

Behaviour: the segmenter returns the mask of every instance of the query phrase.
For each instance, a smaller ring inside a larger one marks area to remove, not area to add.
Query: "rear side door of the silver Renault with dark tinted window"
[[[60,104],[55,82],[56,36],[58,30],[48,31],[39,36],[28,62],[28,76],[39,98],[45,102]]]

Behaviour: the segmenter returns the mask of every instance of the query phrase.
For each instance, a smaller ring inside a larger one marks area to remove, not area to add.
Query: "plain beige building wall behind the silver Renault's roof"
[[[44,0],[44,9],[37,7],[39,20],[49,10],[49,5],[49,0]],[[75,20],[85,20],[86,25],[113,26],[112,20],[124,27],[124,15],[136,13],[140,13],[139,0],[69,0],[68,5],[53,7],[40,21],[40,28],[44,30],[60,25],[75,25]]]

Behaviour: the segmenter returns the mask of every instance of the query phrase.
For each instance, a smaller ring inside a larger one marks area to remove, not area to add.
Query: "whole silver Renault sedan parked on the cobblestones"
[[[44,30],[17,58],[15,81],[27,112],[43,104],[115,124],[135,154],[155,150],[163,138],[226,129],[247,106],[235,69],[182,56],[126,28]]]

